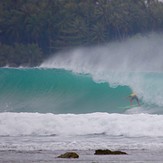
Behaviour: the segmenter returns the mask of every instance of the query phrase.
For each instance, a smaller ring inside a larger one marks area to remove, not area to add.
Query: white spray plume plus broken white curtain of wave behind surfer
[[[54,55],[40,67],[91,74],[111,87],[128,86],[153,108],[163,107],[163,34],[134,36],[104,46],[77,48]]]

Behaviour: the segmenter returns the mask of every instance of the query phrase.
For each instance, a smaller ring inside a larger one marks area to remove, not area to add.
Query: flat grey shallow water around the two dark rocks
[[[65,152],[76,152],[78,159],[57,158]],[[16,151],[1,150],[0,162],[3,163],[106,163],[106,162],[162,162],[163,156],[161,150],[123,150],[127,155],[94,155],[95,150],[32,150]]]

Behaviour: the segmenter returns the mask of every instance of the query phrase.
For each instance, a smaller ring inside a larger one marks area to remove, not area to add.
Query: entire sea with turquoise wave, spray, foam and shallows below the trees
[[[57,162],[76,151],[77,162],[161,162],[160,42],[152,34],[62,52],[36,68],[0,68],[0,160]],[[133,91],[141,106],[128,108]],[[98,157],[96,149],[129,155]]]

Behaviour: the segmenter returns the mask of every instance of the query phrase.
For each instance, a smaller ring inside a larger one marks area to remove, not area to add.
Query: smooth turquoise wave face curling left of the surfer
[[[61,69],[0,69],[1,112],[124,112],[131,89]]]

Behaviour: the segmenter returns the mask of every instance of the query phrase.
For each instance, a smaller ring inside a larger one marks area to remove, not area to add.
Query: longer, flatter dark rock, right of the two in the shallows
[[[111,151],[109,149],[98,149],[95,151],[94,153],[95,155],[124,155],[127,154],[126,152],[122,152],[122,151]]]

